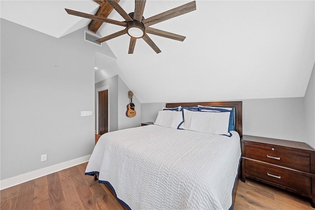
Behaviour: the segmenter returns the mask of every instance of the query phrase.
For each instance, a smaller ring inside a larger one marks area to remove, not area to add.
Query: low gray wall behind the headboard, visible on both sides
[[[246,99],[243,134],[306,142],[303,97]],[[211,100],[209,100],[211,101]],[[155,121],[165,103],[141,104],[141,122]]]

